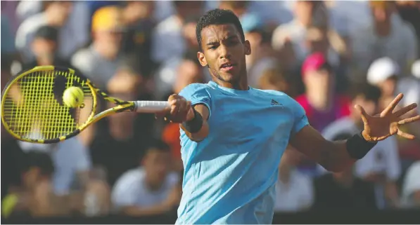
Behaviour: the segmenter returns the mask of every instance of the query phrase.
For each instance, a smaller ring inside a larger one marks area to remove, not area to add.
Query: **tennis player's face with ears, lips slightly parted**
[[[203,52],[198,53],[198,60],[215,79],[234,84],[246,76],[245,56],[250,55],[250,43],[242,41],[234,25],[205,27],[201,37]]]

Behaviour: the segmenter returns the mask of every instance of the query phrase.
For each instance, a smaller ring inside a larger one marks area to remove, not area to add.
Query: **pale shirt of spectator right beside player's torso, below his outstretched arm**
[[[314,188],[307,175],[293,170],[288,184],[277,180],[275,212],[298,212],[309,208],[313,203]]]

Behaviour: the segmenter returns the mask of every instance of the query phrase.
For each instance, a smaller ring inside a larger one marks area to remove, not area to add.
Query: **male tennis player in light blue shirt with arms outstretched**
[[[168,100],[167,117],[182,123],[184,183],[177,224],[271,224],[277,168],[288,144],[336,172],[362,158],[377,141],[395,134],[414,138],[398,125],[420,119],[400,119],[416,104],[393,112],[402,99],[398,95],[380,116],[357,106],[363,132],[346,141],[327,141],[291,97],[248,86],[250,43],[234,13],[205,13],[196,36],[198,60],[212,81],[191,84]]]

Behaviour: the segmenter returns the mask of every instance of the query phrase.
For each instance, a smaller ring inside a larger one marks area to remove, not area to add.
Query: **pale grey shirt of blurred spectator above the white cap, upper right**
[[[410,64],[417,59],[414,29],[396,14],[391,20],[391,31],[388,36],[377,36],[373,24],[369,22],[367,26],[352,32],[350,41],[352,67],[355,67],[357,74],[353,79],[362,79],[358,76],[365,76],[371,62],[379,57],[390,57],[395,60],[402,71],[407,71]]]

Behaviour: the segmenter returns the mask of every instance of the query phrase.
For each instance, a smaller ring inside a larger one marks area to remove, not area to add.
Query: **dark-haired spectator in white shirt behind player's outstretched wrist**
[[[359,104],[369,115],[378,113],[381,90],[369,84],[355,86],[352,91],[352,105]],[[338,119],[327,126],[322,135],[332,140],[341,133],[356,133],[363,130],[360,113],[352,108],[348,117]],[[357,161],[355,175],[375,184],[376,206],[378,208],[398,207],[397,179],[401,175],[400,157],[396,137],[378,142],[369,153]]]

